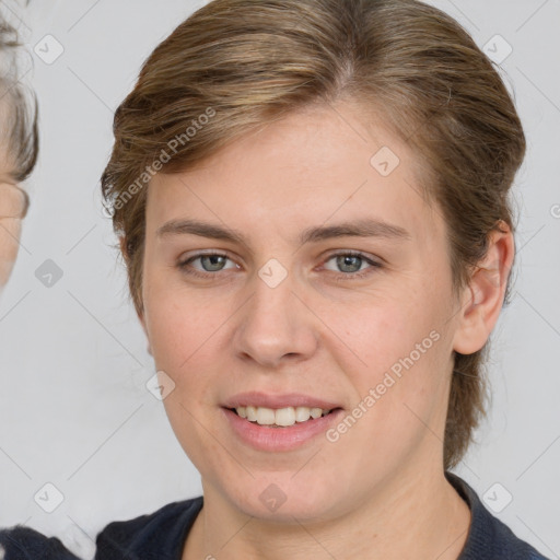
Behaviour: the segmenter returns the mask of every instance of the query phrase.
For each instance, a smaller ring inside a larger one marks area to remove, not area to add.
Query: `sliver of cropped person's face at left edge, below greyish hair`
[[[18,256],[21,223],[27,209],[25,192],[14,183],[0,179],[0,291]]]

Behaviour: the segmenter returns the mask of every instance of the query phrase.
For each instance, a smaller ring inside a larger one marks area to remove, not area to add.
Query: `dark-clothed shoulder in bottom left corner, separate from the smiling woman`
[[[16,525],[0,530],[0,558],[3,560],[79,560],[55,537]]]

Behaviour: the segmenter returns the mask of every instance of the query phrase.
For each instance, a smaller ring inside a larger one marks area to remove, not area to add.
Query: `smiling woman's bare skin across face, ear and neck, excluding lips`
[[[466,541],[470,513],[443,472],[452,357],[488,339],[513,236],[492,234],[480,265],[493,272],[455,294],[446,226],[417,194],[415,154],[364,120],[350,102],[300,110],[150,185],[140,320],[175,383],[164,405],[205,493],[184,560],[451,560]],[[387,177],[370,165],[383,145],[400,159]],[[362,218],[409,236],[298,242],[307,228]],[[158,235],[185,219],[238,230],[245,243]],[[229,257],[221,270],[203,259],[180,268],[210,249]],[[332,254],[348,250],[383,266],[341,268]],[[288,272],[276,288],[258,276],[271,258]],[[357,269],[371,273],[349,279]],[[304,393],[350,412],[433,330],[438,342],[335,443],[256,451],[224,420],[221,404],[245,390]],[[275,512],[259,500],[270,483],[287,497]]]

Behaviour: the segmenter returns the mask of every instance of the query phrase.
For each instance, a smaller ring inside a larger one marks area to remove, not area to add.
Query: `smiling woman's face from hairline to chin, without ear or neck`
[[[249,515],[334,518],[441,472],[445,226],[364,118],[292,114],[150,184],[141,320],[166,411],[205,495]]]

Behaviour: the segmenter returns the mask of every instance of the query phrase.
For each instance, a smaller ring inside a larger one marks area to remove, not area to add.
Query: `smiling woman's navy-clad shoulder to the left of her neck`
[[[180,558],[179,551],[201,509],[202,497],[198,497],[168,503],[133,520],[109,523],[97,535],[95,560]]]

